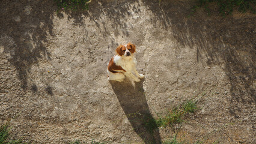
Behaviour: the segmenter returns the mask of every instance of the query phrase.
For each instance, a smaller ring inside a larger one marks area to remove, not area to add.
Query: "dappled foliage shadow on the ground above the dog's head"
[[[127,31],[129,26],[132,26],[132,23],[127,23],[129,17],[132,17],[132,13],[129,10],[132,10],[133,13],[140,13],[140,9],[133,5],[136,1],[91,1],[89,4],[89,9],[86,11],[64,11],[68,15],[68,19],[73,19],[74,25],[84,27],[87,29],[87,23],[84,22],[84,19],[90,19],[91,23],[94,23],[99,29],[100,34],[103,35],[103,40],[108,44],[109,47],[117,47],[120,43],[117,43],[116,37],[121,35],[121,37],[129,37],[130,34]],[[61,15],[61,14],[60,14]],[[128,16],[128,17],[127,17]],[[106,22],[106,19],[109,19],[110,22]],[[109,25],[111,23],[111,25]],[[109,27],[115,29],[114,36],[111,35]],[[90,41],[90,38],[87,34],[85,37]]]

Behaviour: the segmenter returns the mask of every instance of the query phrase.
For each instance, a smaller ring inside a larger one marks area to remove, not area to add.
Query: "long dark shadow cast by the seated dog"
[[[133,130],[147,143],[161,143],[159,129],[148,108],[143,81],[124,82],[109,81],[117,95],[118,101],[124,110]]]

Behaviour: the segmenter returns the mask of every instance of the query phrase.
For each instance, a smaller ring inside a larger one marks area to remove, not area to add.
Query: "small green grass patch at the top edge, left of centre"
[[[58,10],[88,10],[91,0],[54,0]]]

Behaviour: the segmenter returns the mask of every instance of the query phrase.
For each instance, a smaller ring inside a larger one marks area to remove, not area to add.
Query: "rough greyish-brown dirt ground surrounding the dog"
[[[32,143],[256,143],[255,14],[189,17],[194,4],[102,0],[56,13],[51,0],[0,1],[0,124]],[[145,79],[109,82],[128,42]],[[143,116],[191,99],[201,109],[182,125],[146,130]]]

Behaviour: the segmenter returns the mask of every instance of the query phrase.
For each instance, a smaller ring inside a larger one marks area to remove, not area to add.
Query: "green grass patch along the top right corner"
[[[212,6],[218,5],[219,13],[225,16],[231,14],[236,8],[242,13],[249,10],[255,14],[256,0],[197,0],[197,3],[198,4],[192,8],[192,13],[195,13],[198,8],[204,7],[207,13],[210,14],[211,8],[209,4],[213,4]]]

